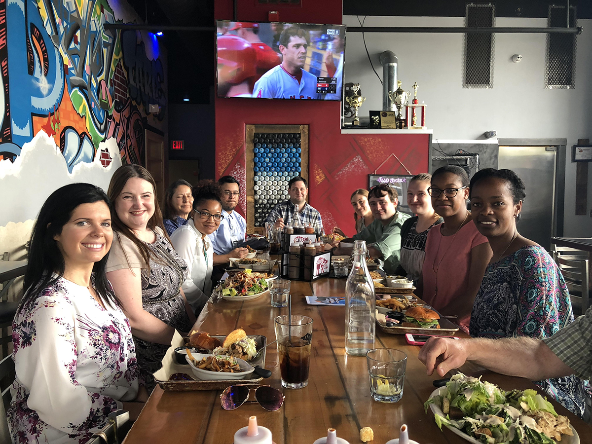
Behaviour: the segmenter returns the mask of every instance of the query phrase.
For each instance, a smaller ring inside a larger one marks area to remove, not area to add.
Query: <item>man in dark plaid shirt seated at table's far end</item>
[[[308,185],[306,179],[296,176],[288,182],[288,194],[290,200],[275,205],[265,219],[266,222],[284,229],[284,225],[292,225],[298,211],[300,224],[305,226],[311,224],[316,233],[323,233],[323,221],[321,214],[306,203]]]

